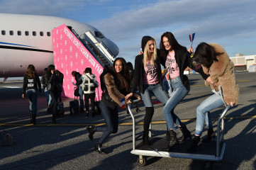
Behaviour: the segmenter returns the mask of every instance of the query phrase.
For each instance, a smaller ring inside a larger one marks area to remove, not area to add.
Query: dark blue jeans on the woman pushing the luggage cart
[[[104,116],[104,120],[106,121],[106,126],[96,127],[96,132],[104,132],[101,138],[99,139],[99,143],[103,143],[111,133],[116,133],[118,131],[118,108],[108,108],[105,103],[102,101],[99,103],[99,107],[101,108],[101,113]]]

